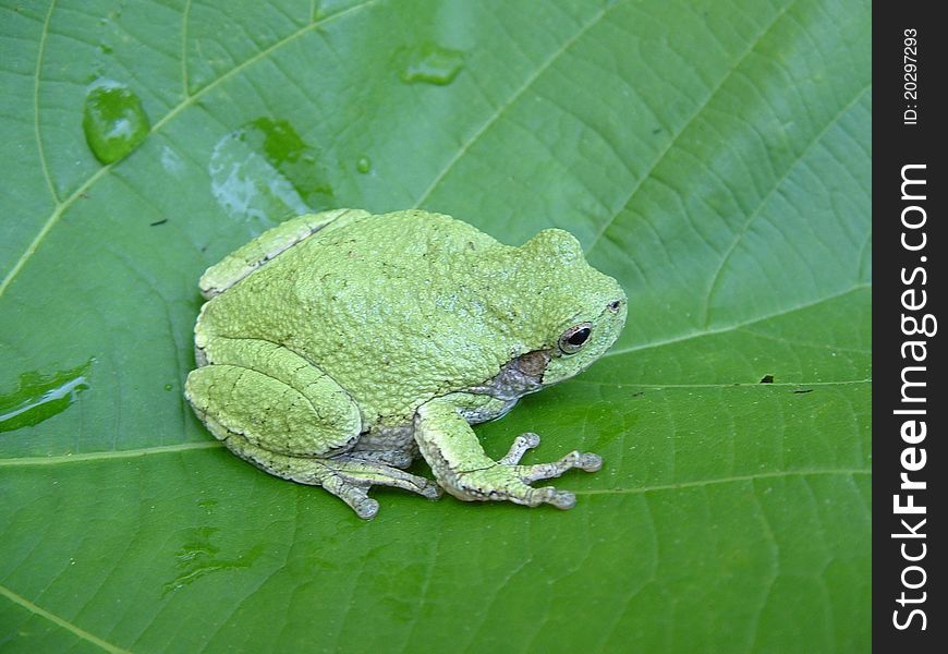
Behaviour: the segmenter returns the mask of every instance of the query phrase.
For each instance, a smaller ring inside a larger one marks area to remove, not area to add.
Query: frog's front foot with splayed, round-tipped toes
[[[520,465],[523,455],[539,445],[539,436],[533,433],[518,436],[510,451],[496,464],[479,470],[461,472],[457,475],[457,489],[451,494],[461,499],[509,500],[514,504],[535,507],[550,504],[559,509],[571,509],[576,497],[567,491],[552,486],[534,488],[531,483],[558,477],[573,468],[595,472],[603,467],[603,459],[590,452],[572,451],[559,461]]]

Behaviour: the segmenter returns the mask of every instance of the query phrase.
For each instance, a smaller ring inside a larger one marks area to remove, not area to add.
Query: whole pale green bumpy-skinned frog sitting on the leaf
[[[440,214],[338,209],[265,232],[200,290],[185,385],[197,416],[361,518],[378,511],[375,485],[568,509],[573,494],[530,484],[601,465],[578,451],[521,465],[531,433],[494,461],[471,428],[586,368],[625,323],[622,289],[564,231],[511,247]],[[436,481],[404,471],[418,456]]]

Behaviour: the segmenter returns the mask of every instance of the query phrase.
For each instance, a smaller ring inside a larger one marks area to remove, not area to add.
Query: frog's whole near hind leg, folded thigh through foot
[[[372,486],[440,495],[435,482],[389,464],[403,462],[399,452],[350,452],[362,432],[358,408],[295,352],[223,337],[209,339],[199,352],[209,365],[191,372],[185,395],[210,432],[242,459],[276,476],[323,486],[361,518],[378,510],[367,495]]]

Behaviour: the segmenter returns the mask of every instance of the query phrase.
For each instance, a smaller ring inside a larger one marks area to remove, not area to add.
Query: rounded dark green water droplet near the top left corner
[[[89,149],[102,164],[127,157],[150,128],[142,100],[127,86],[98,80],[86,94],[83,131]]]

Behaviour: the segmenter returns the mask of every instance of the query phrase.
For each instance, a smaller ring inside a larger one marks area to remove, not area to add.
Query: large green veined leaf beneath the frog
[[[867,2],[3,4],[0,649],[868,649]],[[478,427],[599,452],[572,511],[365,523],[193,417],[199,274],[333,206],[620,279],[613,351]]]

